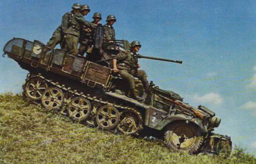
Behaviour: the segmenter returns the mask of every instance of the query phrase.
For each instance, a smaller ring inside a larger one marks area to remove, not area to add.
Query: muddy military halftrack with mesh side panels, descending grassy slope
[[[104,130],[125,135],[153,131],[174,151],[231,150],[227,136],[213,134],[220,118],[205,106],[195,108],[175,92],[149,86],[144,102],[129,98],[127,84],[112,69],[65,50],[50,50],[40,41],[14,38],[3,49],[9,58],[28,70],[23,94],[42,104],[47,111],[57,110],[70,118]],[[136,91],[143,87],[136,81]]]

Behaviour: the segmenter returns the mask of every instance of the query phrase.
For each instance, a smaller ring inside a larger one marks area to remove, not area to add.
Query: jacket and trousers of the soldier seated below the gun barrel
[[[129,89],[135,95],[135,79],[140,79],[146,92],[149,89],[147,74],[143,70],[135,69],[138,65],[138,59],[134,59],[133,52],[120,52],[115,56],[117,60],[117,69],[121,77],[128,81]]]

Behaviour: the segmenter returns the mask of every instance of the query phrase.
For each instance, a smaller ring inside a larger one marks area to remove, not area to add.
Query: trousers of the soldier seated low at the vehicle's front
[[[149,90],[149,82],[147,80],[147,74],[143,70],[132,70],[132,71],[127,71],[127,70],[119,70],[119,74],[123,79],[125,79],[128,82],[129,89],[135,89],[135,78],[138,78],[142,81],[142,84],[144,86],[144,89],[146,92]]]

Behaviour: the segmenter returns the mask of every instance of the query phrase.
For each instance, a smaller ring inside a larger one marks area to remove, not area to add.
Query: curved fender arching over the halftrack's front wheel
[[[194,123],[199,126],[203,133],[208,132],[207,126],[203,125],[199,118],[192,118],[182,114],[168,116],[160,121],[154,128],[157,130],[163,130],[167,125],[178,120],[185,121],[186,123]]]

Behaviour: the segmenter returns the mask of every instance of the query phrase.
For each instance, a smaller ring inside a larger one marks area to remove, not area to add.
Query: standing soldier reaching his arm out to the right
[[[97,25],[84,19],[84,15],[90,12],[88,5],[83,5],[79,13],[76,13],[71,19],[71,26],[65,31],[65,42],[67,43],[67,51],[71,55],[78,55],[78,40],[81,28],[95,29]]]

